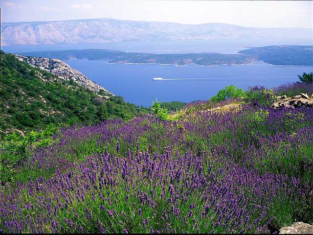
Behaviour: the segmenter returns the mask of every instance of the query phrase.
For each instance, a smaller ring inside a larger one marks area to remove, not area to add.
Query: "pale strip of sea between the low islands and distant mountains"
[[[80,44],[53,44],[53,45],[19,45],[3,46],[5,52],[29,52],[41,50],[68,50],[68,49],[110,49],[145,53],[201,53],[218,52],[235,54],[247,47],[265,47],[273,45],[313,45],[312,38],[294,39],[210,39],[184,41],[127,41],[120,43],[80,43]]]

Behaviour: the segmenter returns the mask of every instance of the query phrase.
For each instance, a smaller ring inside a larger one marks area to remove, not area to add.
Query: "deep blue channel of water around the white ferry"
[[[233,84],[274,87],[298,80],[298,74],[313,71],[307,66],[271,66],[262,61],[241,66],[198,66],[160,64],[108,64],[101,60],[66,61],[93,81],[124,97],[128,102],[148,107],[158,101],[191,102],[208,99],[220,89]],[[153,77],[184,80],[156,80]]]

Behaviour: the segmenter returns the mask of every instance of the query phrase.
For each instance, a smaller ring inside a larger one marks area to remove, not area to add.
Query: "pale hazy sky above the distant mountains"
[[[182,24],[313,27],[312,1],[0,0],[1,22],[110,17]]]

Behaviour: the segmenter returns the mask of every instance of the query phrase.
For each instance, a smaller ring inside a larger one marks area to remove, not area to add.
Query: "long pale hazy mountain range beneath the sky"
[[[191,39],[310,38],[311,28],[256,28],[110,18],[1,23],[1,46]]]

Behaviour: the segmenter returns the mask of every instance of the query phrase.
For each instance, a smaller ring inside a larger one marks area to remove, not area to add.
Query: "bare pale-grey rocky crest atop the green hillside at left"
[[[114,95],[104,87],[99,84],[91,81],[88,77],[86,77],[81,72],[74,70],[69,65],[64,63],[62,60],[58,59],[50,59],[44,57],[31,57],[31,56],[23,56],[23,55],[15,55],[16,58],[22,62],[26,62],[32,67],[37,67],[39,69],[51,72],[57,75],[60,79],[69,80],[72,79],[74,82],[79,85],[85,87],[91,92],[98,93],[100,90],[104,90],[108,95]]]

